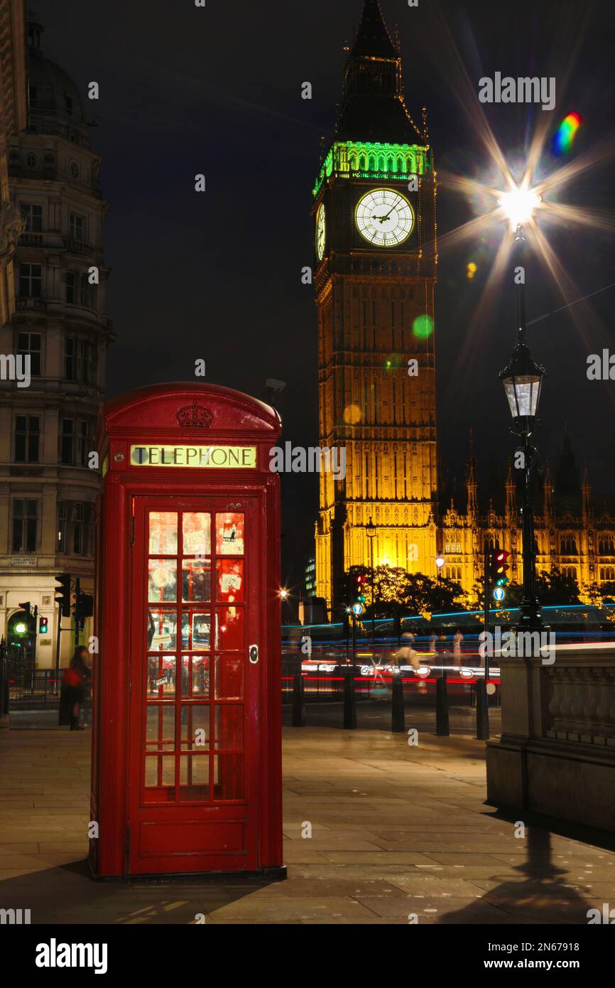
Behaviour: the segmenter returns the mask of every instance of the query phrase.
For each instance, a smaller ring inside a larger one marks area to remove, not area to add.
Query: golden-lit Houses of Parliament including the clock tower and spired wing
[[[320,476],[316,594],[330,609],[345,603],[343,574],[372,557],[434,577],[442,553],[442,575],[472,594],[488,540],[522,579],[511,467],[482,485],[470,448],[464,491],[438,470],[436,186],[425,111],[411,117],[398,44],[378,0],[364,0],[313,190],[320,443],[346,448],[346,477]],[[592,498],[567,436],[534,488],[538,571],[581,588],[615,580],[615,511]]]

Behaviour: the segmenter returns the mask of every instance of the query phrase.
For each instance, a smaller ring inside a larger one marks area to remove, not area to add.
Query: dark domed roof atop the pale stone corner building
[[[33,11],[28,21],[28,76],[30,113],[34,117],[56,118],[64,126],[84,126],[83,106],[76,84],[70,76],[42,53],[42,27]]]

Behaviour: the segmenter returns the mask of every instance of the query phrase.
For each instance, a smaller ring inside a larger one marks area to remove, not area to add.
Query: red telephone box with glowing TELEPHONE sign
[[[281,859],[280,432],[226,387],[157,384],[98,430],[94,873]]]

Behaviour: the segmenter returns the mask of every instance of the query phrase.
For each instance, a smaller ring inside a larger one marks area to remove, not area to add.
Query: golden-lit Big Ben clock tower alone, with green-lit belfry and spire
[[[426,574],[436,555],[433,154],[378,0],[347,53],[313,214],[320,445],[346,448],[346,476],[320,476],[317,594],[337,609],[371,552]]]

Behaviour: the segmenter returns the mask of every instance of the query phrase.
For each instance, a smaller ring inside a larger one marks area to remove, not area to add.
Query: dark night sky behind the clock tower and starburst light
[[[381,0],[381,7],[389,28],[399,28],[408,109],[419,121],[427,106],[438,172],[487,175],[475,124],[481,76],[556,76],[552,113],[519,104],[483,109],[507,160],[522,157],[541,118],[550,136],[568,113],[581,115],[571,153],[556,161],[548,140],[543,164],[551,170],[602,149],[601,164],[557,196],[599,214],[602,228],[545,232],[577,286],[570,297],[615,282],[615,4],[420,0],[415,9]],[[207,0],[204,10],[192,0],[37,0],[35,8],[47,57],[84,96],[89,81],[101,86],[99,103],[85,102],[98,123],[92,141],[111,204],[108,314],[118,340],[109,351],[108,395],[191,379],[202,358],[207,380],[260,398],[267,377],[286,381],[283,438],[317,445],[316,308],[301,268],[313,260],[310,190],[321,135],[333,133],[342,47],[352,40],[361,0]],[[311,101],[301,99],[304,81],[312,83]],[[204,195],[193,191],[198,172],[206,176]],[[441,181],[440,237],[474,214]],[[484,243],[440,244],[438,434],[442,461],[459,481],[471,427],[484,470],[490,453],[503,470],[512,449],[498,380],[516,328],[512,285],[472,321],[504,232],[497,226]],[[478,269],[472,281],[469,262]],[[538,258],[528,260],[527,280],[528,320],[564,304]],[[593,489],[612,493],[615,382],[588,381],[586,358],[615,351],[615,288],[588,303],[529,328],[532,354],[549,374],[537,439],[541,458],[553,463],[568,422]],[[283,572],[295,583],[313,546],[317,477],[287,475],[283,491]]]

